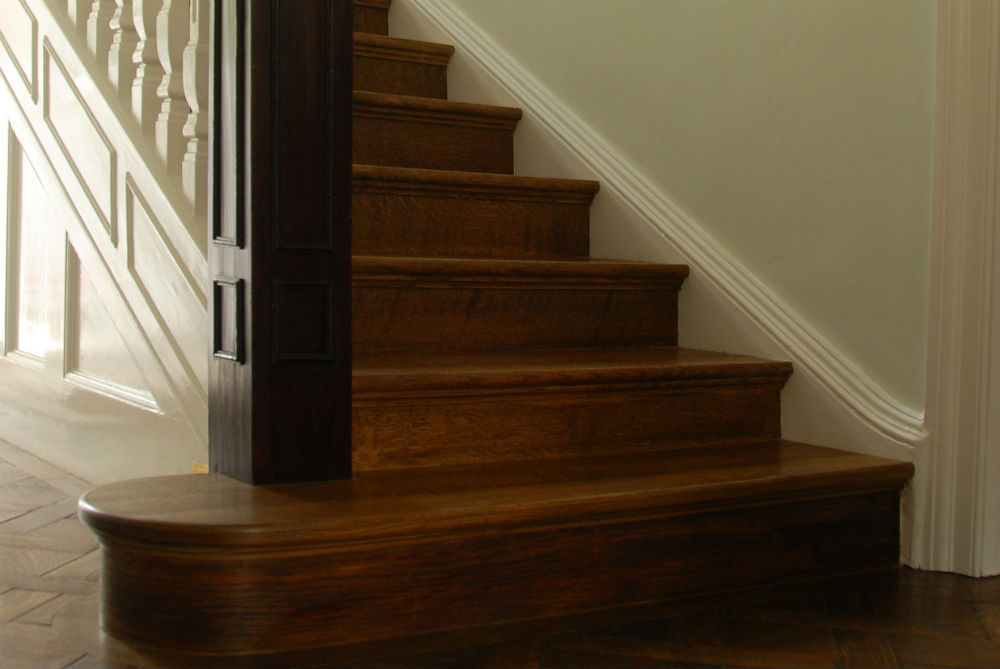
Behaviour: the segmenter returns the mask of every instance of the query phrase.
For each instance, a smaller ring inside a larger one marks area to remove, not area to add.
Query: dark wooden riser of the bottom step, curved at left
[[[697,514],[567,517],[450,538],[317,537],[309,550],[248,550],[238,561],[231,550],[106,544],[103,623],[113,636],[153,647],[183,639],[204,653],[280,652],[717,599],[891,568],[898,511],[896,491],[806,497]]]

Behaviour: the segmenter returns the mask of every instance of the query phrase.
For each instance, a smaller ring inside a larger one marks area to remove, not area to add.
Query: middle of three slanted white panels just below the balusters
[[[48,44],[44,52],[45,120],[114,243],[115,152]]]

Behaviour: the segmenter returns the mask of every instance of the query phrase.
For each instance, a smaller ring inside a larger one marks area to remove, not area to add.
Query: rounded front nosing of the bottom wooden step
[[[760,442],[759,445],[768,444],[789,444],[792,448],[796,447],[794,442],[785,440]],[[734,445],[732,448],[754,446],[754,443],[748,443]],[[116,540],[123,543],[160,545],[167,551],[183,552],[184,549],[178,548],[176,544],[192,551],[197,551],[201,545],[229,546],[235,550],[268,550],[276,545],[278,539],[286,551],[297,552],[305,547],[311,551],[337,547],[350,550],[352,547],[386,540],[398,541],[401,538],[432,541],[442,536],[602,525],[718,511],[756,502],[780,503],[888,491],[898,489],[913,472],[911,463],[805,444],[798,446],[807,447],[817,460],[838,461],[838,466],[822,471],[807,471],[802,468],[795,471],[795,464],[798,462],[795,459],[777,470],[758,471],[752,465],[741,465],[732,468],[736,472],[741,472],[741,468],[745,470],[739,476],[730,475],[729,478],[679,485],[670,481],[677,472],[668,469],[597,479],[511,483],[473,493],[464,490],[411,491],[403,497],[379,497],[378,500],[382,503],[375,503],[376,508],[367,514],[338,514],[331,511],[323,514],[321,520],[313,520],[304,526],[280,522],[279,519],[247,519],[227,524],[208,520],[202,523],[181,523],[148,517],[124,517],[102,511],[108,505],[101,504],[100,499],[91,504],[87,495],[81,500],[80,509],[88,524],[98,532],[113,534]],[[638,460],[641,461],[643,455],[648,456],[649,453],[632,455],[638,455]],[[606,459],[607,456],[591,458],[594,462]],[[809,459],[800,458],[803,461]],[[462,469],[454,468],[456,472]],[[338,491],[341,497],[349,498],[354,490],[369,485],[369,481],[378,486],[380,479],[400,476],[401,472],[420,476],[415,470],[385,470],[372,472],[368,476],[359,474],[353,481],[298,484],[292,487],[301,491],[315,490],[313,497],[324,498],[317,501],[317,504],[329,505],[331,509],[335,509],[338,505],[351,504],[350,499],[338,499]],[[206,489],[209,495],[213,487],[236,490],[250,497],[281,496],[282,488],[289,488],[262,486],[247,490],[250,486],[219,476],[188,475],[173,478],[182,486]],[[110,484],[102,489],[102,493],[114,495],[120,486],[130,488],[155,480],[139,479]],[[532,499],[532,489],[547,489],[548,493]],[[334,494],[330,495],[331,492]],[[404,500],[407,504],[402,503]],[[365,503],[363,498],[361,503]],[[253,503],[248,502],[248,506],[252,508]],[[206,511],[210,518],[212,509],[208,508]],[[323,535],[334,536],[322,539]],[[180,537],[183,537],[183,542],[179,541]]]

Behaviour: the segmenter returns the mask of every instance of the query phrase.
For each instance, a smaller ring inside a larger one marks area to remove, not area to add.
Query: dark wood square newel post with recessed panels
[[[215,0],[209,462],[351,475],[352,0]]]

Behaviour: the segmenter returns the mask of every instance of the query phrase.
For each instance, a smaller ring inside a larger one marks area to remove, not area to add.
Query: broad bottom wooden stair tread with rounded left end
[[[775,440],[662,452],[359,472],[250,486],[224,476],[123,481],[80,502],[96,530],[175,546],[352,544],[577,525],[898,488],[910,463]]]

